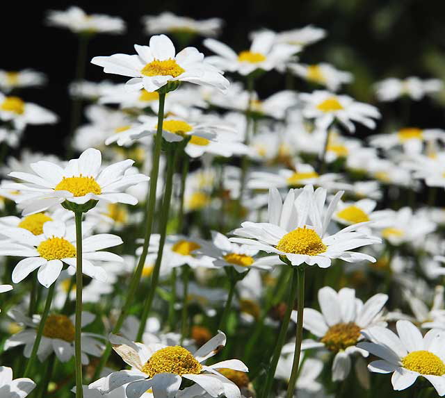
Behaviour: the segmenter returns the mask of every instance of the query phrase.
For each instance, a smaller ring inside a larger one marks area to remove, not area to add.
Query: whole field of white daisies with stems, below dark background
[[[79,60],[107,80],[70,86],[66,157],[20,147],[58,122],[17,94],[46,76],[0,70],[0,397],[444,396],[445,130],[379,110],[442,81],[385,78],[371,105],[304,62],[322,28],[232,48],[218,18],[142,23],[133,52]]]

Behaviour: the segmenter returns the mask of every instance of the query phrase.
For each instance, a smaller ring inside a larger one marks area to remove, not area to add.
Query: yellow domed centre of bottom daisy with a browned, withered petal
[[[142,371],[151,378],[160,373],[200,374],[202,365],[188,349],[175,345],[156,351],[143,365]]]

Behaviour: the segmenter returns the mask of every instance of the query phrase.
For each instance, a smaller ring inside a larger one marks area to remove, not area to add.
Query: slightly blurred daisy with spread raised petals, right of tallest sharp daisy
[[[228,72],[238,72],[243,76],[257,69],[270,71],[283,69],[292,56],[300,51],[299,46],[291,44],[274,44],[275,33],[264,31],[255,35],[250,49],[236,53],[227,44],[215,39],[204,40],[204,46],[216,53],[206,60],[216,67]]]

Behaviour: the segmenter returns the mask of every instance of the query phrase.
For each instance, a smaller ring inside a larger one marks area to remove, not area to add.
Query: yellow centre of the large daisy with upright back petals
[[[314,229],[297,228],[286,233],[277,244],[277,249],[284,253],[316,256],[327,249]]]

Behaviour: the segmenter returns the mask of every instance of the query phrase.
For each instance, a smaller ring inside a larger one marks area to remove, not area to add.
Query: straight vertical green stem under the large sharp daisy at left
[[[82,390],[82,215],[74,212],[76,219],[76,324],[74,325],[74,360],[76,363],[76,398],[83,398]]]

